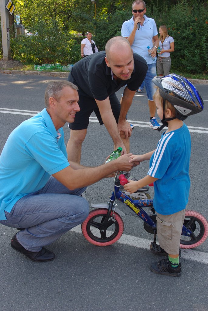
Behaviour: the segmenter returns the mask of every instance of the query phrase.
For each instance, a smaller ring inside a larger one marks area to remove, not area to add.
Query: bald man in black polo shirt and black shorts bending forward
[[[126,115],[147,69],[145,59],[133,53],[129,41],[123,37],[110,39],[105,51],[91,54],[72,67],[68,81],[79,88],[80,111],[74,123],[69,124],[68,160],[80,163],[81,146],[93,111],[108,130],[114,149],[122,147],[123,154],[129,152],[132,128]],[[125,85],[121,105],[115,92]]]

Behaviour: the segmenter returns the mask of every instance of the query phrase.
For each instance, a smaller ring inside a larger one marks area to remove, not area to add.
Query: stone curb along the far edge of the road
[[[0,73],[7,74],[21,74],[21,75],[39,75],[39,76],[49,76],[49,77],[68,77],[69,72],[49,72],[49,71],[23,71],[23,70],[9,70],[0,69]],[[208,80],[199,79],[188,79],[193,84],[208,84]]]

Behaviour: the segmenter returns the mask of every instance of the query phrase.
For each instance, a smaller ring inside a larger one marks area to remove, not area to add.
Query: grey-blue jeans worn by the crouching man
[[[10,213],[5,211],[7,220],[0,223],[26,228],[16,234],[17,240],[25,249],[39,252],[86,219],[89,204],[80,197],[85,189],[69,190],[51,176],[41,190],[22,197]]]

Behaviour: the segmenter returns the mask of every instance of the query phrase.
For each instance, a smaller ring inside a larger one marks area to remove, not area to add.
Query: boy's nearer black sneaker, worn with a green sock
[[[157,274],[168,276],[180,276],[181,275],[181,263],[177,268],[173,268],[168,258],[161,259],[159,262],[153,262],[150,265],[150,270]]]

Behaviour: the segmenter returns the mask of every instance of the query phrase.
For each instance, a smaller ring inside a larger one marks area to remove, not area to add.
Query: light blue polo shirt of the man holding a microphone
[[[153,47],[152,38],[158,34],[157,26],[153,18],[144,15],[144,23],[140,26],[139,30],[136,30],[132,49],[134,53],[142,56],[147,64],[152,64],[152,58],[148,54],[147,46]],[[133,16],[130,20],[125,21],[121,28],[122,37],[129,37],[134,28]]]

